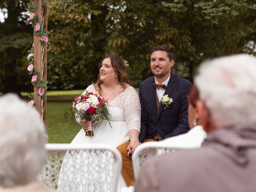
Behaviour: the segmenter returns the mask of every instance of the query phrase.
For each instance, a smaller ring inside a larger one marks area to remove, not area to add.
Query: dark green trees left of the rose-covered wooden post
[[[28,0],[4,0],[0,10],[7,10],[8,17],[0,22],[0,90],[20,92],[32,90],[26,70],[27,50],[32,46],[33,29],[28,25],[26,3]]]

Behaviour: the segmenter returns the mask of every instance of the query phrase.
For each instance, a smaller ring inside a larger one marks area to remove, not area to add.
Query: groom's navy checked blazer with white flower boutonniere
[[[152,76],[140,83],[140,142],[153,138],[157,130],[163,139],[186,133],[189,130],[187,95],[192,84],[171,73],[164,95],[168,94],[173,102],[166,109],[163,104],[160,104],[157,114],[154,82],[155,78]]]

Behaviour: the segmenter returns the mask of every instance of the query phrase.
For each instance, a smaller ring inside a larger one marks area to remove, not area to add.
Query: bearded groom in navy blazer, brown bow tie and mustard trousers
[[[173,55],[164,46],[153,47],[150,52],[150,67],[154,76],[140,83],[141,128],[139,141],[160,141],[188,132],[187,95],[192,84],[171,73],[174,65]],[[161,103],[164,95],[172,98],[166,107]],[[166,108],[165,108],[166,107]],[[127,186],[132,185],[134,174],[132,156],[127,155],[130,142],[117,147],[122,154],[122,176]],[[132,153],[137,146],[132,146]]]

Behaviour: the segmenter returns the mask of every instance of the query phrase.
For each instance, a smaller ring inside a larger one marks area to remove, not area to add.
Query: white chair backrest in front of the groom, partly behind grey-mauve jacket
[[[140,173],[140,166],[148,159],[161,154],[186,150],[184,147],[172,147],[164,142],[144,142],[139,145],[132,154],[132,166],[135,180]]]

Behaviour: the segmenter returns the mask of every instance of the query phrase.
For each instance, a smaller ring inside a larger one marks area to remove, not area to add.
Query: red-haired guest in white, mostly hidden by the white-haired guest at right
[[[162,140],[161,143],[168,144],[172,147],[182,148],[198,148],[201,146],[207,134],[201,125],[197,125],[199,121],[198,110],[196,108],[196,101],[199,99],[199,92],[195,85],[192,86],[188,94],[188,125],[190,131],[185,134],[170,137]]]

